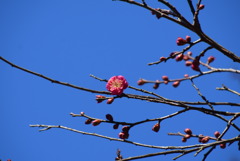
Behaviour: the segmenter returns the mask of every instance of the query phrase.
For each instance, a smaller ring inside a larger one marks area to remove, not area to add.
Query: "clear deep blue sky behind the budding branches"
[[[174,2],[190,20],[187,2]],[[220,0],[203,1],[205,9],[200,13],[203,30],[227,49],[239,55],[240,11],[239,1],[229,3]],[[152,5],[162,7],[157,2]],[[89,77],[93,74],[108,79],[123,75],[132,86],[139,78],[160,79],[162,75],[181,78],[185,73],[196,74],[183,62],[147,66],[161,56],[181,50],[176,46],[177,37],[190,35],[190,31],[166,21],[157,20],[142,8],[111,0],[63,1],[63,0],[1,0],[0,1],[0,55],[13,63],[41,73],[53,79],[96,90],[106,90],[105,83]],[[206,47],[200,44],[193,48],[198,53]],[[236,68],[239,64],[226,59],[216,50],[208,55],[216,57],[214,67]],[[205,57],[207,59],[207,57]],[[204,69],[206,70],[206,69]],[[42,78],[22,72],[0,62],[0,159],[13,161],[79,161],[113,160],[119,148],[124,157],[158,152],[133,145],[84,136],[61,129],[38,132],[29,124],[64,125],[87,132],[117,137],[120,130],[111,125],[86,126],[83,118],[72,118],[69,113],[79,113],[105,118],[110,113],[119,121],[135,122],[146,118],[157,118],[177,110],[163,104],[154,104],[131,99],[118,99],[111,105],[97,104],[95,94],[66,86],[52,84]],[[213,74],[195,80],[201,92],[210,101],[239,102],[239,97],[228,92],[216,91],[225,84],[240,91],[239,76]],[[166,98],[201,101],[190,82],[178,88],[161,85],[158,90],[151,85],[144,89],[154,91]],[[126,93],[139,94],[131,89]],[[239,111],[238,107],[216,107],[218,110]],[[235,121],[239,125],[239,120]],[[188,112],[166,120],[159,133],[153,133],[154,123],[146,123],[131,131],[130,140],[154,145],[191,145],[196,139],[182,143],[180,137],[167,136],[191,128],[196,134],[213,135],[223,131],[226,124],[218,119],[198,112]],[[230,129],[226,138],[238,132]],[[197,156],[200,160],[203,154]],[[153,157],[171,160],[176,155]],[[190,160],[193,154],[179,158]],[[208,160],[238,161],[239,151],[233,144],[226,150],[217,148]]]

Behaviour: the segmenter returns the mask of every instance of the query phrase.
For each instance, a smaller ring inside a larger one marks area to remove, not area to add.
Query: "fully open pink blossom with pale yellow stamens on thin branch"
[[[119,75],[111,77],[106,85],[108,91],[110,91],[113,95],[121,95],[123,90],[128,87],[128,82],[126,79]]]

